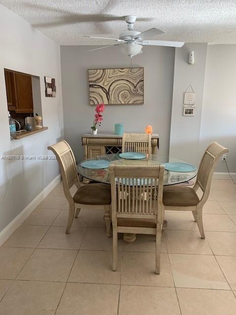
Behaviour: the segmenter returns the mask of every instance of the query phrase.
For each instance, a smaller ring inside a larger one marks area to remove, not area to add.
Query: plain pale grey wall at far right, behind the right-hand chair
[[[202,152],[212,141],[229,148],[230,172],[236,172],[236,45],[207,48],[200,140]],[[216,171],[227,172],[225,162]]]

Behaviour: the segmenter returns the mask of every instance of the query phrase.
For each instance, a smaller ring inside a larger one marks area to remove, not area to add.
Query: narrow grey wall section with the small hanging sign
[[[194,51],[195,64],[188,63]],[[176,49],[170,156],[198,164],[207,44],[186,43]],[[183,97],[189,85],[196,92],[195,116],[183,116]]]

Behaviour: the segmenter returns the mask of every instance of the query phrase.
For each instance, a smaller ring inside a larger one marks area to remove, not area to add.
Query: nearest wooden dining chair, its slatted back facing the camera
[[[110,165],[113,226],[113,270],[117,270],[118,233],[156,236],[155,273],[160,273],[162,204],[165,167]]]

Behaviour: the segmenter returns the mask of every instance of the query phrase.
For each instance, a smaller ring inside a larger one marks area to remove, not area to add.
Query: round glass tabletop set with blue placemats
[[[109,161],[110,164],[116,164],[116,165],[144,166],[144,165],[164,164],[164,163],[188,163],[179,158],[171,158],[171,157],[165,157],[165,156],[160,156],[160,155],[155,155],[155,154],[151,154],[149,156],[147,155],[147,157],[143,159],[124,159],[124,158],[120,158],[119,154],[117,153],[117,154],[106,154],[103,156],[97,156],[95,158],[88,158],[84,161],[81,161],[77,165],[77,171],[80,175],[82,175],[83,177],[89,180],[101,182],[105,184],[110,184],[109,168],[91,169],[91,168],[85,168],[81,166],[81,164],[85,161],[98,160],[98,159],[107,160]],[[178,172],[178,171],[165,170],[164,186],[187,182],[193,179],[196,175],[197,175],[197,170],[192,171],[192,172]]]

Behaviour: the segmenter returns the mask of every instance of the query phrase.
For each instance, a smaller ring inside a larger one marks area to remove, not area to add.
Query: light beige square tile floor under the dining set
[[[82,210],[66,235],[61,183],[0,247],[0,314],[235,315],[236,186],[213,180],[204,207],[206,240],[191,213],[166,212],[161,274],[155,240],[112,238],[101,211]]]

